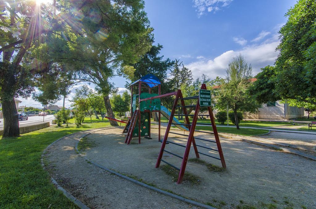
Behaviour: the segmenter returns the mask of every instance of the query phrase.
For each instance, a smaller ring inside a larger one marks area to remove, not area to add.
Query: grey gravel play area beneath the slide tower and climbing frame
[[[211,139],[204,134],[196,135]],[[184,137],[175,136],[170,135],[168,140],[185,144]],[[98,131],[88,136],[88,141],[93,142],[94,147],[84,152],[87,158],[107,168],[138,176],[159,188],[201,202],[212,202],[222,208],[236,208],[242,205],[241,202],[258,208],[267,208],[269,204],[277,208],[316,208],[315,161],[265,146],[221,138],[228,169],[218,173],[209,171],[204,165],[188,163],[186,171],[197,175],[201,183],[192,185],[184,182],[177,185],[161,169],[154,168],[161,143],[157,142],[157,134],[152,134],[152,138],[142,139],[141,144],[133,140],[131,145],[126,145],[120,129]],[[313,139],[302,141],[311,143]],[[197,144],[215,145],[203,141]],[[183,147],[172,144],[168,144],[166,149],[178,155],[184,153]],[[205,150],[202,152],[207,153]],[[215,155],[213,152],[209,154]],[[194,157],[191,149],[189,158]],[[201,158],[220,166],[219,160],[204,156]],[[170,154],[165,154],[163,159],[177,167],[181,164],[181,159]]]

